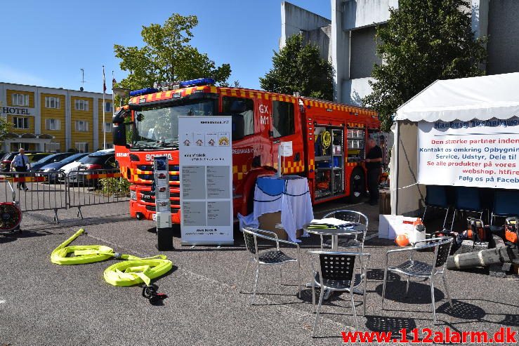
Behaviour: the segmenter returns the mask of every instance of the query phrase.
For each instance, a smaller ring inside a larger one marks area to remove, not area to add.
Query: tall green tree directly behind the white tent
[[[376,109],[389,131],[400,105],[437,79],[481,76],[486,38],[474,39],[466,0],[400,0],[390,8],[387,25],[376,29],[380,42],[370,81],[373,91],[362,101]]]

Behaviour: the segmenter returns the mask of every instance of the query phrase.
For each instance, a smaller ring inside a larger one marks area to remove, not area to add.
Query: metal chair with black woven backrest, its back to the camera
[[[319,267],[314,269],[312,261],[312,303],[315,310],[315,286],[321,289],[319,305],[317,305],[317,315],[312,330],[312,337],[315,335],[315,327],[319,321],[324,291],[346,291],[350,293],[353,316],[355,325],[359,328],[357,311],[355,310],[355,300],[353,291],[362,287],[362,302],[364,305],[364,316],[366,315],[366,270],[369,253],[348,253],[348,252],[327,252],[310,251],[310,255],[319,256]],[[365,260],[363,260],[365,258]]]

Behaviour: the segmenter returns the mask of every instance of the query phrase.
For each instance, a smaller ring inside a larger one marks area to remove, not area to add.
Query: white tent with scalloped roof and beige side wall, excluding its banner
[[[519,117],[519,73],[435,81],[400,106],[390,164],[393,214],[413,215],[423,206],[425,187],[416,180],[418,121],[511,117]],[[438,177],[438,185],[441,179]]]

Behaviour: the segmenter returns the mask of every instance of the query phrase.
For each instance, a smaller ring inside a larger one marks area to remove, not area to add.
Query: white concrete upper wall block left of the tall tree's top
[[[346,0],[343,3],[343,29],[386,22],[390,7],[398,8],[398,0]]]

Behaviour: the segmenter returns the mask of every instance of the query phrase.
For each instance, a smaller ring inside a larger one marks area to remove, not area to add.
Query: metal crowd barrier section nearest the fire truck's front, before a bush
[[[82,206],[129,201],[129,182],[119,169],[70,171],[66,177],[68,206],[77,208],[83,218]]]

